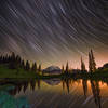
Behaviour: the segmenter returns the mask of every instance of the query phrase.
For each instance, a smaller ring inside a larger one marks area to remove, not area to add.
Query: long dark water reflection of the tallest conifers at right
[[[102,108],[99,83],[97,81],[91,81],[91,87],[92,87],[92,92],[93,92],[96,106],[98,108]]]

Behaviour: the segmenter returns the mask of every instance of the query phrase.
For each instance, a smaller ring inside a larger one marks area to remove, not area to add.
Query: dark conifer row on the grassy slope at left
[[[39,72],[41,71],[41,64],[37,66],[37,63],[32,63],[30,66],[30,63],[28,60],[22,59],[19,55],[15,55],[14,52],[12,52],[11,55],[0,55],[0,64],[5,64],[10,69],[18,69],[22,68],[26,71],[33,71]]]

